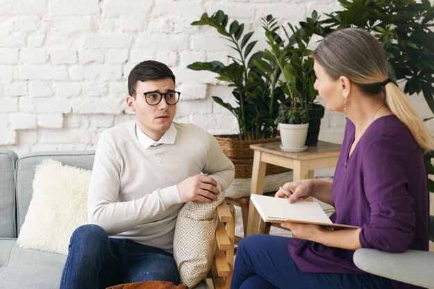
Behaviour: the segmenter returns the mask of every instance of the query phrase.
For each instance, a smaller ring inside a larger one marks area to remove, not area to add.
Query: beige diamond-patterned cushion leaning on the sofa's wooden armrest
[[[218,200],[207,204],[188,202],[178,214],[173,256],[181,283],[189,288],[205,278],[216,252],[216,207],[225,200],[225,193]]]

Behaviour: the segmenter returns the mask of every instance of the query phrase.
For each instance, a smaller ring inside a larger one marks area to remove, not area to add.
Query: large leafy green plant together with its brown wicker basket
[[[253,150],[250,149],[250,145],[279,141],[275,119],[279,103],[285,99],[278,84],[279,67],[270,61],[263,51],[254,51],[257,40],[252,40],[253,32],[245,33],[244,24],[236,20],[229,24],[229,17],[221,10],[211,16],[204,13],[192,25],[215,28],[235,52],[235,56],[228,55],[229,64],[219,61],[194,62],[187,67],[196,71],[214,72],[218,80],[233,88],[232,96],[236,106],[225,102],[219,96],[212,98],[234,114],[239,133],[219,135],[216,139],[236,169],[235,180],[231,186],[236,187],[232,190],[234,195],[228,191],[227,195],[247,196],[250,195],[253,164]],[[279,184],[288,181],[288,174],[286,168],[268,165],[264,190],[279,189]]]

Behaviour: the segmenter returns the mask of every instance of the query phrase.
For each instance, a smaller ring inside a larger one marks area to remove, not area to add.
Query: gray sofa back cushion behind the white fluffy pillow
[[[17,222],[18,232],[21,230],[28,205],[33,195],[33,177],[35,168],[43,159],[55,159],[63,165],[75,166],[92,170],[94,165],[94,151],[76,152],[30,152],[17,160]],[[19,233],[18,233],[19,234]]]

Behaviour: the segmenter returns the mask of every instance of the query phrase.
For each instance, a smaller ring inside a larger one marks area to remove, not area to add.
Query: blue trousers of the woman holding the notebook
[[[253,235],[236,250],[231,289],[392,289],[372,274],[305,273],[288,252],[289,238]]]

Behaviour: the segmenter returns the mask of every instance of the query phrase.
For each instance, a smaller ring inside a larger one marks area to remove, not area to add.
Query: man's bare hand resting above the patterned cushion
[[[220,193],[216,180],[208,174],[187,177],[176,186],[182,202],[212,202]]]

